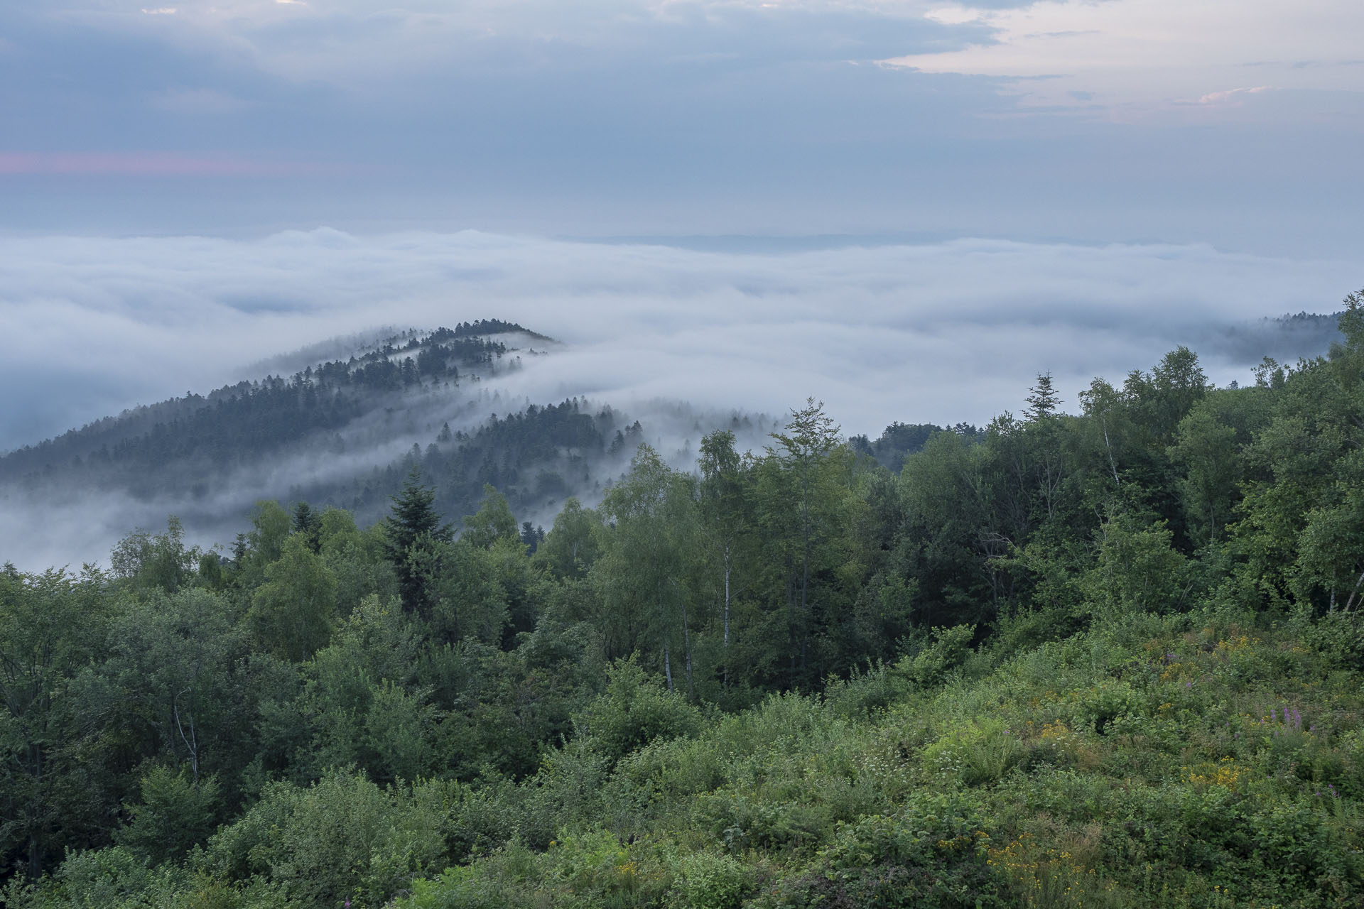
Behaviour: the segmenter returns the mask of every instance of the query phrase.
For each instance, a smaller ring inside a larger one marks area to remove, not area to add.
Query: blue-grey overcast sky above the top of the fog
[[[1360,253],[1357,0],[0,4],[0,229]]]

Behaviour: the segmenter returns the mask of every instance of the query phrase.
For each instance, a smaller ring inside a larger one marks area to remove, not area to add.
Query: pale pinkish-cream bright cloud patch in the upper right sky
[[[1361,12],[1352,0],[1039,0],[994,11],[948,5],[929,16],[974,23],[989,41],[908,55],[898,65],[1005,79],[1024,108],[1209,124],[1248,101],[1243,93],[1299,93],[1296,105],[1240,114],[1273,123],[1320,119],[1341,104],[1311,93],[1353,93],[1352,108],[1364,93],[1353,40]]]

